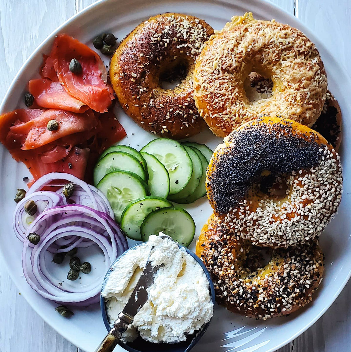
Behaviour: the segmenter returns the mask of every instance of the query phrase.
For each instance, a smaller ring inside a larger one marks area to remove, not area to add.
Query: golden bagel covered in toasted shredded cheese
[[[269,98],[247,97],[244,81],[256,72],[273,82]],[[234,16],[196,60],[194,99],[214,134],[228,136],[261,114],[312,126],[322,112],[327,77],[316,46],[298,29]]]

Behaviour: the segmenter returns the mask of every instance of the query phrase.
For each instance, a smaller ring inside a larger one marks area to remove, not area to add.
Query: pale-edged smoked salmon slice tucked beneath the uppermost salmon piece
[[[59,82],[38,78],[30,80],[28,86],[35,102],[43,108],[64,109],[75,113],[89,109],[89,106],[68,94]]]

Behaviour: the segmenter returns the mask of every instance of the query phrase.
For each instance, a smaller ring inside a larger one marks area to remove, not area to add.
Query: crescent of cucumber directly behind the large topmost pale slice
[[[169,200],[177,203],[185,203],[186,199],[191,194],[193,194],[196,188],[199,186],[201,177],[203,175],[200,157],[197,155],[193,148],[188,146],[184,146],[184,148],[189,154],[191,161],[193,162],[193,174],[191,175],[190,181],[184,189],[182,189],[179,193],[170,195],[168,197]]]

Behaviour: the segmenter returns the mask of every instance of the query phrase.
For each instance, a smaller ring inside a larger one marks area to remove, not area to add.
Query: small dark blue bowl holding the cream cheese
[[[143,245],[143,243],[139,243],[136,246],[140,246],[140,245]],[[182,247],[180,245],[178,245],[178,246],[180,248]],[[134,247],[135,246],[130,247],[127,251],[131,250]],[[185,249],[186,249],[187,253],[190,254],[190,256],[193,257],[196,260],[196,262],[201,265],[201,268],[203,269],[203,271],[204,271],[204,273],[205,273],[205,275],[207,277],[207,280],[208,280],[208,283],[209,283],[209,286],[210,286],[210,289],[209,289],[210,290],[210,298],[211,298],[212,303],[214,304],[215,303],[215,291],[214,291],[214,287],[213,287],[213,282],[211,280],[209,272],[206,269],[206,266],[204,266],[204,264],[202,263],[201,259],[194,252],[190,251],[187,248],[185,248]],[[127,251],[125,251],[124,253],[126,253]],[[119,260],[119,258],[121,258],[124,255],[124,253],[122,253],[115,260],[115,262],[117,260]],[[115,264],[115,262],[113,262],[113,264]],[[113,264],[111,265],[111,267],[113,266]],[[103,282],[103,285],[102,285],[103,287],[104,287],[105,282],[108,279],[108,276],[110,275],[110,272],[111,272],[111,268],[106,273],[106,276],[105,276],[105,279],[104,279],[104,282]],[[111,326],[110,326],[110,322],[109,322],[109,319],[108,319],[107,313],[106,313],[105,299],[101,295],[100,295],[100,307],[101,307],[101,312],[102,312],[102,319],[103,319],[103,321],[105,323],[106,329],[108,331],[110,331]],[[210,319],[210,321],[211,321],[211,319]],[[125,344],[124,342],[119,341],[118,344],[121,347],[123,347],[125,350],[129,351],[129,352],[164,352],[164,351],[167,351],[167,352],[188,352],[201,339],[202,335],[207,330],[207,328],[208,328],[208,326],[210,324],[210,321],[208,321],[206,324],[203,324],[200,330],[196,331],[192,335],[189,335],[189,337],[187,338],[186,341],[182,341],[182,342],[179,342],[179,343],[175,343],[175,344],[165,344],[165,343],[154,344],[152,342],[143,340],[139,336],[137,339],[135,339],[132,342],[128,342],[128,343]]]

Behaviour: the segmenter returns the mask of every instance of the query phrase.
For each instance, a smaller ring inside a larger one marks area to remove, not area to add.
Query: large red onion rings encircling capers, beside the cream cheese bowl
[[[24,241],[22,266],[27,282],[41,296],[50,300],[76,306],[87,306],[99,300],[105,272],[111,263],[128,248],[127,241],[118,225],[107,214],[83,205],[58,206],[43,211],[30,225],[27,234],[36,232],[40,241],[33,248],[28,239]],[[71,238],[70,238],[71,237]],[[70,244],[70,241],[74,243]],[[59,244],[67,241],[70,244],[61,249]],[[59,280],[47,270],[44,256],[47,250],[59,253],[94,243],[102,250],[104,272],[101,280],[95,280],[89,287],[58,285]]]

